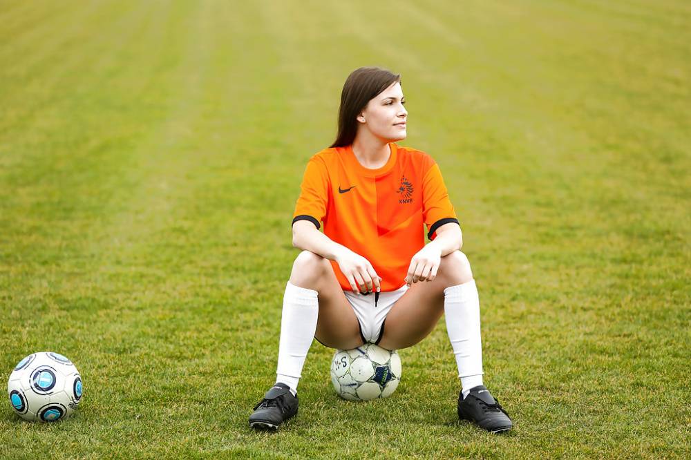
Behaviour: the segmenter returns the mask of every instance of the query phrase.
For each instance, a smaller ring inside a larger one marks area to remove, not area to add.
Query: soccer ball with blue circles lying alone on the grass
[[[58,421],[77,408],[84,387],[72,361],[58,353],[40,352],[19,361],[10,374],[7,392],[22,419]]]

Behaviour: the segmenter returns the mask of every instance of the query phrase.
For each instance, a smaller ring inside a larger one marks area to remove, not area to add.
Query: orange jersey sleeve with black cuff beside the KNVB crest
[[[449,222],[458,224],[456,212],[453,210],[442,171],[439,165],[432,164],[422,180],[422,218],[427,226],[427,238],[434,240],[439,227]]]

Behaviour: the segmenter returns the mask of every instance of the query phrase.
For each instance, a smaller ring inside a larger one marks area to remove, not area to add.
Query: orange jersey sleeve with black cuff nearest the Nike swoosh
[[[298,220],[309,220],[317,229],[321,227],[328,203],[329,175],[323,158],[314,156],[307,162],[300,196],[295,204],[293,223]]]

